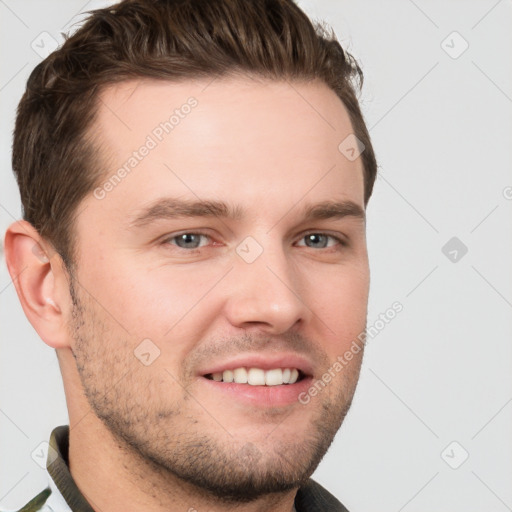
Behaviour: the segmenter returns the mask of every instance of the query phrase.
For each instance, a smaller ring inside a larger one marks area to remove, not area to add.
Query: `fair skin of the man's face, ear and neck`
[[[314,382],[364,331],[364,218],[303,217],[325,201],[364,210],[362,162],[338,150],[353,130],[323,83],[132,81],[101,93],[91,133],[105,179],[191,96],[197,106],[122,182],[79,205],[71,276],[24,221],[7,232],[8,267],[57,349],[71,473],[94,508],[289,512],[350,406],[363,351],[307,405],[228,396],[201,372],[292,353]],[[240,215],[135,226],[162,198]],[[173,238],[197,232],[195,249]],[[308,233],[329,237],[308,246]],[[249,236],[262,250],[252,263],[236,251]],[[146,366],[134,351],[147,339],[159,356]]]

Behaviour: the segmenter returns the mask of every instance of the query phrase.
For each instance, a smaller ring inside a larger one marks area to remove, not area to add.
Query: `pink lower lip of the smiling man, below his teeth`
[[[266,408],[283,407],[299,402],[299,395],[306,392],[313,379],[305,377],[295,384],[280,386],[251,386],[234,382],[218,382],[202,377],[207,386],[218,393],[224,393],[240,402]]]

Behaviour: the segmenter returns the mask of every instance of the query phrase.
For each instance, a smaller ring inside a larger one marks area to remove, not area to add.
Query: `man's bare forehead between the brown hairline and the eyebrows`
[[[165,195],[236,197],[260,211],[306,195],[363,204],[361,159],[338,149],[352,133],[348,113],[322,82],[123,82],[102,91],[93,133],[105,211]]]

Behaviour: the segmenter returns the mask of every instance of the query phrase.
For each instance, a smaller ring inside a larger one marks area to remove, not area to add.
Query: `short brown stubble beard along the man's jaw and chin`
[[[87,300],[79,296],[73,281],[70,293],[73,356],[84,394],[118,446],[138,461],[140,468],[145,466],[140,474],[145,474],[146,479],[150,467],[160,480],[162,475],[172,481],[177,478],[197,489],[198,494],[226,504],[284,493],[309,479],[350,408],[360,364],[352,366],[351,375],[344,380],[348,385],[339,386],[335,395],[324,390],[315,397],[314,400],[321,400],[321,406],[309,420],[302,439],[276,438],[271,449],[270,443],[264,448],[240,439],[233,442],[228,433],[223,441],[211,435],[211,426],[201,428],[190,409],[188,416],[181,410],[183,404],[193,402],[186,396],[185,401],[173,407],[155,403],[151,389],[154,393],[158,387],[151,388],[149,381],[137,381],[129,371],[130,363],[115,350],[109,350],[105,320],[95,312],[98,308],[92,301],[86,305]],[[124,346],[126,352],[131,352],[128,342]],[[135,466],[133,472],[137,474]]]

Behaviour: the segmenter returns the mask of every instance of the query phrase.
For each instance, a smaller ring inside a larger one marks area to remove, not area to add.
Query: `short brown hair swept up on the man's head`
[[[23,217],[68,268],[77,207],[102,179],[90,127],[107,84],[230,73],[319,79],[364,144],[365,205],[377,164],[357,100],[363,73],[332,30],[293,0],[125,0],[91,16],[31,73],[18,105],[12,165]],[[341,142],[341,141],[340,141]]]

